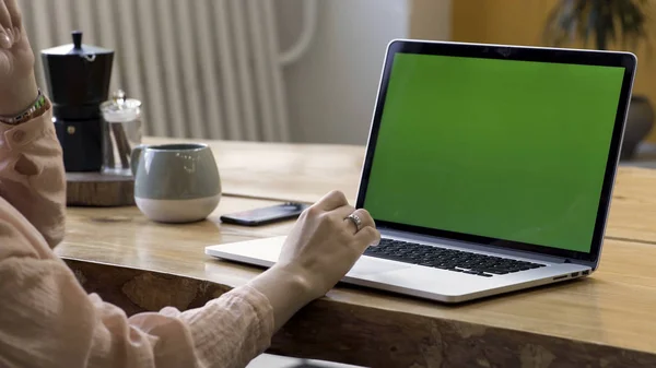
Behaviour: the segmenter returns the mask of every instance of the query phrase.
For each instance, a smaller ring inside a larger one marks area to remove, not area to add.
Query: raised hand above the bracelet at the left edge
[[[34,52],[16,0],[0,0],[0,116],[20,114],[34,103]]]

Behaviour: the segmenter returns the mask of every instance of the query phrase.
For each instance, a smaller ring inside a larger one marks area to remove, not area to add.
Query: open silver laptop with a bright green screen
[[[443,302],[599,265],[636,58],[394,40],[358,207],[383,240],[343,283]],[[284,237],[211,246],[271,266]]]

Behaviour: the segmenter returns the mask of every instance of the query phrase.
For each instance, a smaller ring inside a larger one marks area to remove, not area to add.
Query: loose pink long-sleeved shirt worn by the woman
[[[243,286],[204,307],[128,318],[87,295],[51,251],[66,180],[48,111],[0,123],[0,368],[244,367],[273,333],[269,300]]]

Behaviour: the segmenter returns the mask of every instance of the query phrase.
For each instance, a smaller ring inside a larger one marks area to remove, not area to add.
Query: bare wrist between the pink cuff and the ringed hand
[[[276,265],[250,282],[250,286],[269,299],[278,331],[305,305],[319,297],[309,282],[296,270]]]

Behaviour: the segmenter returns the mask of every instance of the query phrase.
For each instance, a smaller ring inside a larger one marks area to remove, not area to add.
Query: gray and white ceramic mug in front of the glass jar
[[[134,202],[149,218],[190,223],[207,218],[219,205],[221,180],[208,145],[140,145],[131,158]]]

